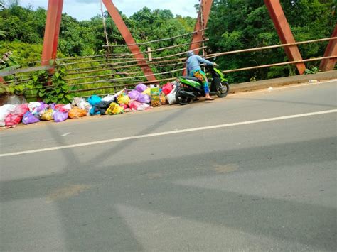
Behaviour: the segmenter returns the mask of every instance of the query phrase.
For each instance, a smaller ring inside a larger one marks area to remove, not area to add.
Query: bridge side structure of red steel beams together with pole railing
[[[319,38],[316,40],[307,40],[296,42],[294,35],[284,15],[282,6],[279,1],[265,0],[264,4],[267,6],[269,16],[274,23],[274,28],[279,35],[280,44],[269,45],[260,48],[246,48],[244,50],[235,50],[230,52],[213,52],[207,53],[207,41],[205,38],[205,31],[207,30],[208,18],[210,16],[211,6],[213,1],[200,1],[200,11],[196,21],[196,26],[193,33],[186,33],[178,35],[174,38],[159,38],[158,40],[147,41],[145,43],[137,43],[132,37],[126,24],[122,20],[117,7],[113,1],[105,0],[102,3],[107,8],[110,16],[116,24],[119,32],[125,40],[123,45],[112,45],[107,40],[105,45],[104,55],[95,55],[87,57],[74,57],[60,59],[57,57],[58,36],[60,31],[61,14],[63,10],[63,0],[48,1],[48,13],[46,18],[46,30],[44,33],[43,53],[40,62],[32,62],[36,65],[28,69],[10,70],[0,72],[0,78],[9,76],[12,80],[8,80],[6,85],[25,85],[32,75],[37,70],[48,70],[55,65],[50,65],[53,60],[58,60],[60,64],[58,67],[65,67],[67,75],[65,81],[70,87],[70,94],[81,96],[90,96],[91,94],[108,94],[117,92],[123,87],[132,88],[139,82],[145,84],[163,83],[174,80],[177,75],[181,75],[185,71],[184,62],[186,60],[185,53],[168,53],[164,57],[155,57],[154,54],[162,51],[170,52],[175,48],[186,48],[194,50],[196,53],[202,51],[206,58],[223,57],[233,54],[245,54],[249,52],[264,51],[274,48],[284,48],[284,51],[289,59],[287,62],[277,62],[268,65],[256,65],[253,67],[244,67],[240,69],[224,70],[224,73],[254,70],[263,67],[273,67],[280,65],[296,65],[296,69],[300,75],[306,70],[306,62],[321,61],[320,70],[333,70],[336,65],[337,55],[337,26],[331,35],[331,38]],[[158,43],[164,40],[175,40],[179,37],[191,37],[191,42],[188,44],[172,45],[166,48],[160,48]],[[299,53],[298,45],[307,43],[321,43],[329,41],[324,55],[316,58],[303,59]],[[116,54],[112,53],[114,48],[128,48],[129,53]],[[151,48],[152,47],[152,48]],[[155,47],[156,49],[153,49]],[[146,48],[146,50],[141,49]],[[41,65],[40,65],[41,63]],[[160,71],[163,67],[171,67],[170,70]],[[156,72],[153,69],[156,68]],[[3,80],[4,82],[4,80]],[[53,85],[50,84],[50,89]]]

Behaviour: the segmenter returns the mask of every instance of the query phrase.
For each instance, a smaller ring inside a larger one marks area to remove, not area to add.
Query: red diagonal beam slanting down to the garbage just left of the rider
[[[146,64],[146,60],[144,58],[144,55],[141,53],[141,50],[139,50],[138,45],[135,45],[136,42],[134,41],[134,38],[132,38],[132,34],[130,33],[129,29],[125,25],[122,16],[120,16],[118,9],[114,6],[112,3],[112,0],[102,0],[103,4],[105,4],[105,7],[107,7],[107,11],[109,12],[110,16],[112,17],[112,20],[116,24],[119,32],[122,34],[122,37],[124,38],[125,42],[127,43],[129,50],[134,54],[134,57],[137,60],[137,63],[141,67],[141,70],[144,72],[144,75],[146,76],[146,79],[156,80],[156,77],[154,77],[154,72],[152,72],[149,65]]]

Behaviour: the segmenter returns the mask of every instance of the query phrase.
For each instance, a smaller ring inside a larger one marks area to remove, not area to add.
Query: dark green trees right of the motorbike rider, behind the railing
[[[285,16],[296,41],[328,38],[336,24],[335,4],[323,0],[281,1]],[[258,48],[280,43],[263,0],[215,0],[208,21],[206,36],[210,38],[210,53]],[[299,45],[304,59],[321,57],[327,43]],[[252,53],[225,55],[217,60],[223,69],[268,65],[289,61],[283,48]],[[318,67],[319,61],[313,62]],[[308,67],[309,64],[307,65]],[[259,70],[230,73],[232,82],[264,80],[295,75],[294,66],[279,66]]]

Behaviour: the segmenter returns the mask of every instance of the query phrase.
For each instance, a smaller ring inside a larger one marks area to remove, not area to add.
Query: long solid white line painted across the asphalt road
[[[127,141],[127,140],[138,139],[138,138],[151,138],[151,137],[154,137],[154,136],[166,136],[166,135],[177,134],[177,133],[204,131],[204,130],[213,129],[213,128],[226,128],[226,127],[240,126],[240,125],[246,125],[246,124],[259,124],[259,123],[264,123],[264,122],[268,122],[268,121],[279,121],[279,120],[285,120],[285,119],[294,119],[294,118],[305,117],[305,116],[317,116],[317,115],[321,115],[321,114],[331,114],[331,113],[336,113],[336,112],[337,112],[337,109],[331,109],[331,110],[317,111],[317,112],[311,112],[311,113],[305,113],[305,114],[294,114],[294,115],[291,115],[291,116],[279,116],[279,117],[252,120],[252,121],[241,121],[241,122],[232,123],[232,124],[218,124],[218,125],[213,125],[213,126],[205,126],[205,127],[198,127],[198,128],[186,128],[186,129],[181,129],[181,130],[165,131],[165,132],[151,133],[151,134],[146,134],[146,135],[127,136],[127,137],[124,137],[124,138],[111,138],[111,139],[102,140],[102,141],[93,141],[93,142],[87,142],[87,143],[70,144],[68,146],[56,146],[56,147],[42,148],[42,149],[36,149],[36,150],[18,151],[18,152],[14,152],[14,153],[4,153],[4,154],[0,154],[0,158],[1,157],[8,157],[8,156],[11,156],[11,155],[23,155],[23,154],[29,154],[29,153],[39,153],[39,152],[44,152],[44,151],[61,150],[61,149],[66,149],[66,148],[93,146],[93,145],[97,145],[97,144]]]

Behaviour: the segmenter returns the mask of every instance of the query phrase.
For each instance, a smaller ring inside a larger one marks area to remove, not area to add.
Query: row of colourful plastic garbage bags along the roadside
[[[135,89],[123,89],[105,97],[92,95],[87,100],[75,97],[71,104],[45,104],[29,102],[0,106],[0,126],[7,128],[38,121],[65,121],[92,115],[117,115],[130,111],[142,111],[162,104],[176,103],[176,83],[168,82],[162,88],[138,84]]]

